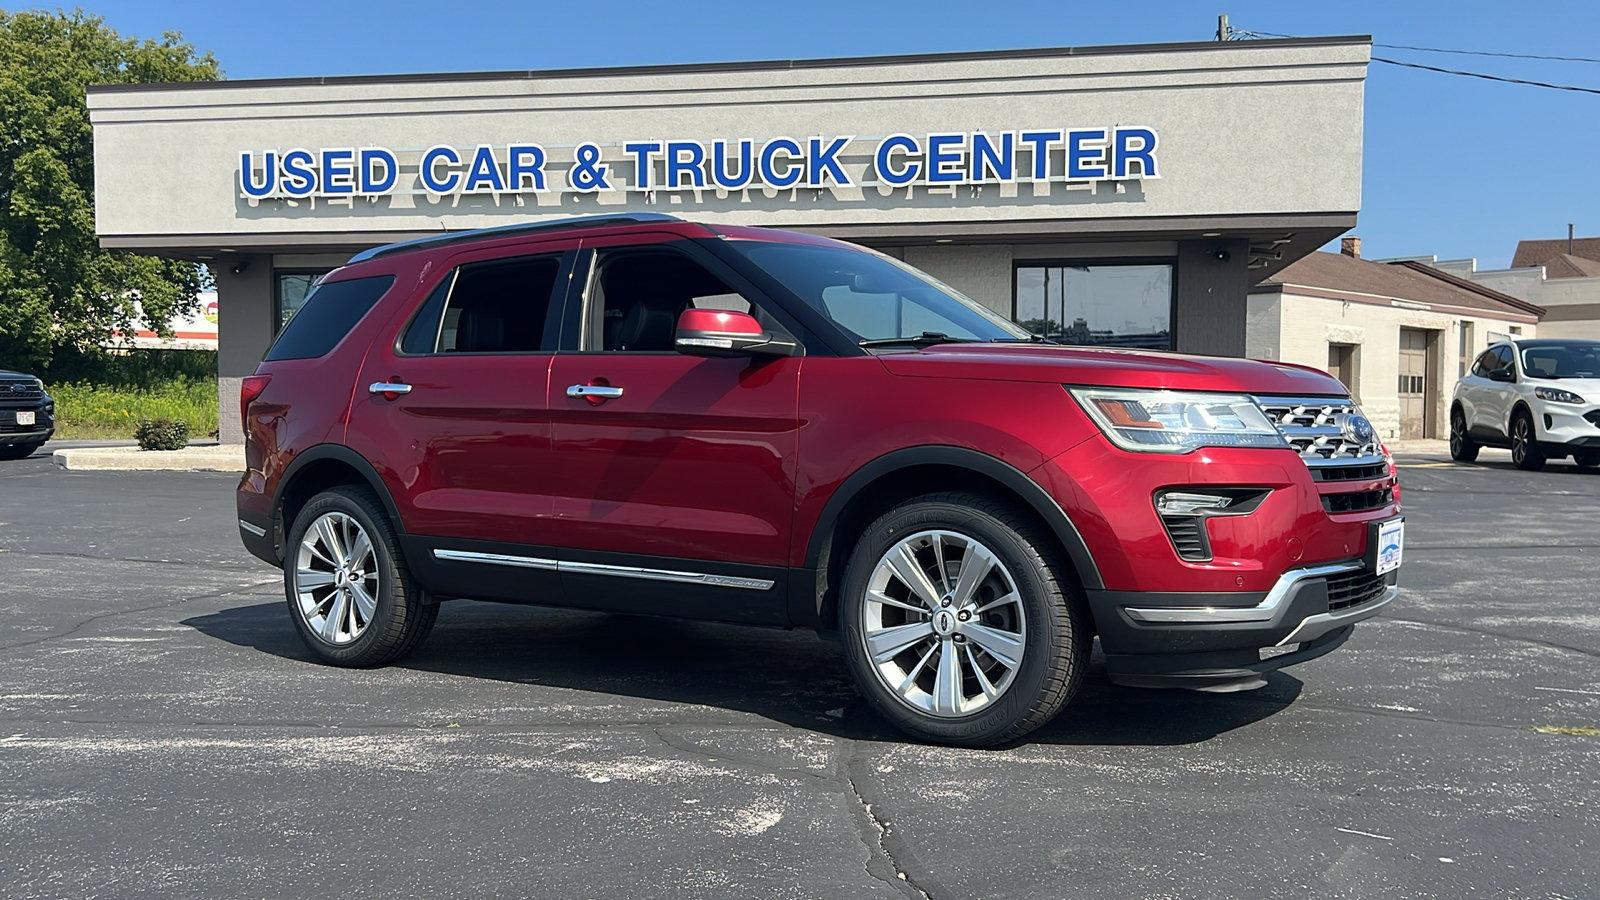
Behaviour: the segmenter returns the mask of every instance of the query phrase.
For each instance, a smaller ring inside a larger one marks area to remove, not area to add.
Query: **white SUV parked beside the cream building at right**
[[[1518,469],[1600,466],[1600,341],[1539,338],[1483,351],[1450,404],[1450,456],[1510,447]]]

